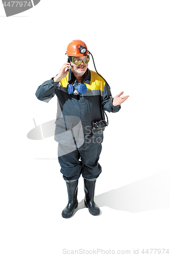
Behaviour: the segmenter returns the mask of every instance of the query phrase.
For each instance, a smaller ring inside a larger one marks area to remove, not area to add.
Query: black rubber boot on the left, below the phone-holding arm
[[[68,192],[68,204],[62,211],[63,218],[70,218],[74,209],[78,207],[77,192],[78,192],[78,180],[66,182]]]

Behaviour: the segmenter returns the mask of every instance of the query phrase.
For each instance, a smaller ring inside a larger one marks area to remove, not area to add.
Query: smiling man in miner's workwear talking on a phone
[[[82,40],[72,40],[67,47],[68,61],[59,73],[38,87],[36,96],[48,102],[57,95],[58,110],[55,140],[58,144],[60,172],[66,182],[68,204],[63,218],[70,218],[78,206],[78,180],[84,178],[84,203],[90,214],[100,214],[94,202],[96,179],[102,172],[99,157],[102,151],[105,122],[104,111],[118,112],[129,96],[114,98],[101,75],[88,69],[90,59]],[[97,125],[96,125],[97,123]],[[100,127],[98,127],[98,125]]]

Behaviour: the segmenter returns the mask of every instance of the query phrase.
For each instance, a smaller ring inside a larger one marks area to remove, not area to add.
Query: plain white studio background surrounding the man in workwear
[[[0,4],[2,256],[168,248],[169,9],[169,1],[41,0],[7,18]],[[112,96],[129,98],[108,113],[95,188],[102,214],[84,208],[81,177],[78,210],[63,219],[57,142],[27,134],[33,118],[36,125],[56,118],[56,96],[45,103],[35,92],[59,72],[73,39],[86,42]]]

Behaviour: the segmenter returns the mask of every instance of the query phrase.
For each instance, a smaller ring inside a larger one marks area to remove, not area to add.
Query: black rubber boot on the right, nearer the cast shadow
[[[99,215],[100,208],[98,207],[98,205],[94,203],[95,182],[96,180],[89,181],[84,179],[84,191],[85,191],[84,203],[88,207],[90,214]]]

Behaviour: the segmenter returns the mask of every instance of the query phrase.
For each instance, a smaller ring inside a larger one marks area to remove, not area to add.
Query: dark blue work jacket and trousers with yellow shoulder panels
[[[103,131],[92,130],[92,122],[105,119],[104,111],[118,112],[113,106],[110,88],[96,72],[87,69],[81,82],[87,86],[82,95],[67,93],[67,84],[76,77],[70,69],[65,78],[54,82],[53,78],[38,87],[36,97],[48,102],[57,95],[57,119],[55,140],[58,144],[58,160],[66,181],[96,179],[102,172],[98,163],[102,151]],[[81,161],[80,161],[81,159]]]

